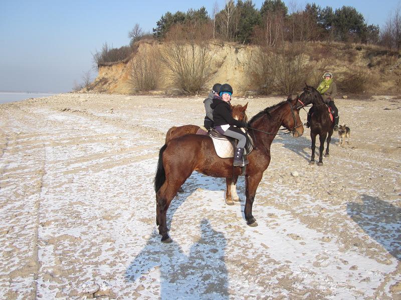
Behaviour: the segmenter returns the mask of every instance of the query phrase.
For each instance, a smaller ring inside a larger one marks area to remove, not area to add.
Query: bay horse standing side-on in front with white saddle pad
[[[298,137],[303,133],[299,109],[295,109],[296,99],[287,99],[256,114],[248,123],[254,137],[254,150],[248,155],[249,164],[245,172],[246,203],[245,219],[250,226],[256,226],[252,215],[256,189],[263,172],[270,163],[270,145],[280,126],[292,131]],[[154,190],[156,191],[156,224],[161,241],[171,241],[168,236],[166,213],[178,188],[190,176],[198,171],[213,177],[229,178],[233,173],[240,175],[242,168],[233,167],[233,158],[217,156],[210,137],[188,134],[170,140],[159,151]]]

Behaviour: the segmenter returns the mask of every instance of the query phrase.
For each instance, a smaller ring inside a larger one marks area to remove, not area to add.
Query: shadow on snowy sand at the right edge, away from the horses
[[[362,195],[363,203],[348,202],[347,213],[370,237],[401,260],[401,208],[378,197]]]

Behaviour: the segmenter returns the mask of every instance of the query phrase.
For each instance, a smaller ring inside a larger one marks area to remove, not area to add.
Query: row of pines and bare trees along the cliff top
[[[96,65],[121,61],[135,52],[135,42],[157,40],[210,40],[255,44],[266,47],[284,42],[313,40],[379,44],[388,49],[401,47],[401,9],[393,9],[386,24],[367,24],[362,13],[344,5],[333,10],[316,3],[299,8],[287,7],[282,0],[265,0],[260,8],[252,0],[226,0],[224,7],[215,2],[212,12],[205,7],[186,12],[167,11],[156,22],[153,32],[144,32],[138,23],[129,31],[130,44],[120,48],[103,45],[93,54]]]

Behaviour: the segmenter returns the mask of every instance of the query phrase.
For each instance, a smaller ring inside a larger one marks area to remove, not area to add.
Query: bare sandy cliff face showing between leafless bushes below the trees
[[[156,46],[160,53],[163,53],[168,50],[170,44],[141,41],[138,52],[144,47],[151,46]],[[246,95],[249,90],[255,88],[249,76],[248,62],[251,54],[257,50],[256,46],[222,42],[212,42],[209,46],[210,55],[212,55],[209,69],[210,78],[202,92],[206,92],[216,82],[229,82],[237,95]],[[401,55],[399,53],[375,46],[323,42],[306,44],[303,50],[310,61],[311,68],[319,62],[329,61],[326,67],[336,74],[336,80],[340,83],[337,84],[340,91],[341,86],[350,85],[351,87],[347,91],[352,93],[352,81],[361,80],[360,77],[355,77],[353,72],[359,72],[359,75],[364,73],[369,75],[369,81],[365,84],[367,86],[366,93],[401,92],[397,84],[401,79],[401,58],[399,58]],[[132,61],[135,59],[135,55],[137,54],[133,54],[131,59],[127,59],[125,62],[100,66],[98,77],[90,89],[107,93],[135,93],[131,80]],[[171,94],[171,91],[177,86],[171,82],[168,71],[161,62],[160,67],[161,79],[157,84],[157,89],[150,93]],[[341,84],[341,80],[344,84]],[[314,84],[311,81],[308,83]],[[364,93],[364,91],[355,91],[355,93]]]

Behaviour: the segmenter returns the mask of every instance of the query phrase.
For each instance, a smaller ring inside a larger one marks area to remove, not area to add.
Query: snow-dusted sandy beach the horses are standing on
[[[338,99],[350,143],[324,165],[277,136],[253,215],[194,172],[160,242],[153,178],[204,96],[66,93],[0,104],[2,299],[401,299],[401,99]],[[247,114],[284,97],[249,101]],[[301,110],[301,119],[306,112]],[[318,151],[318,149],[317,149]]]

